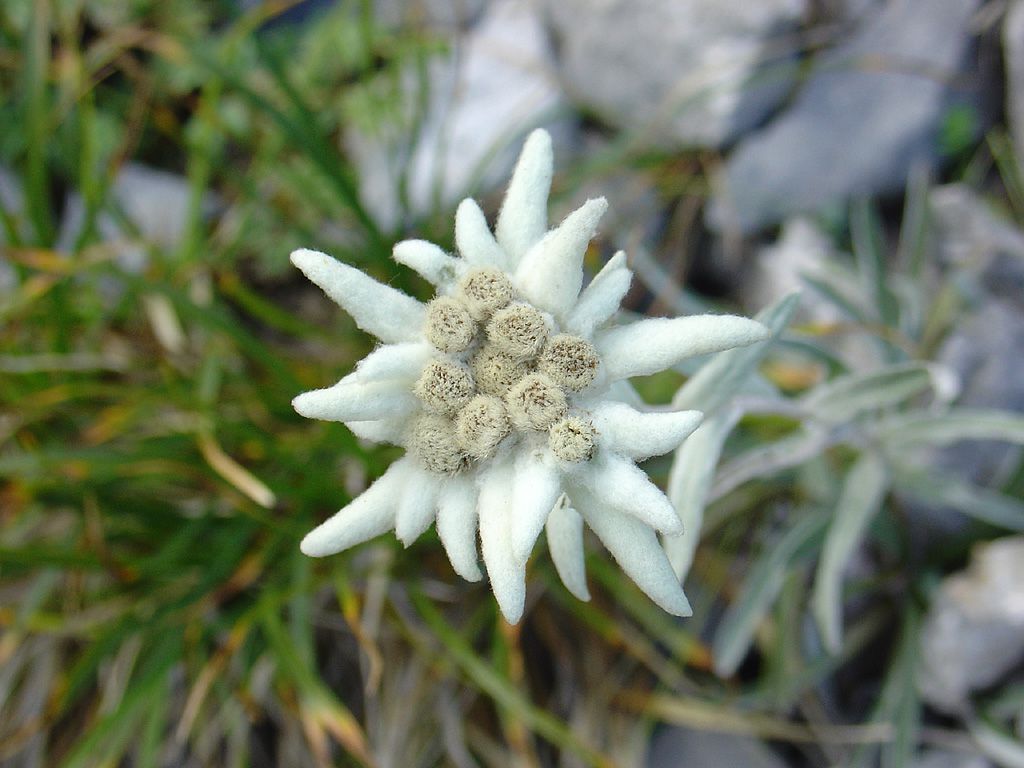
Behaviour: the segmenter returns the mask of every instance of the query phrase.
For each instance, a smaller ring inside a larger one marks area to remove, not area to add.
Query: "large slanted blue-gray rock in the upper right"
[[[950,108],[980,99],[982,79],[968,69],[977,5],[891,0],[819,56],[793,106],[729,158],[712,226],[750,231],[851,196],[892,193],[911,168],[937,164]]]

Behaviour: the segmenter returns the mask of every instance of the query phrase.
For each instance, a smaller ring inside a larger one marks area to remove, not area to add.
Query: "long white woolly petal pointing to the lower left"
[[[409,459],[396,461],[351,504],[306,534],[299,549],[310,557],[325,557],[390,530],[401,490],[414,470]]]

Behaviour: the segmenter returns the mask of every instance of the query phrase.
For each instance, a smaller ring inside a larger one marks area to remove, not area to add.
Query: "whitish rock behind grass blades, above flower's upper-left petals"
[[[388,115],[375,130],[346,134],[364,204],[385,229],[450,207],[508,177],[530,128],[559,130],[563,106],[544,28],[528,0],[496,0],[479,24],[401,90],[404,126]],[[419,91],[425,88],[425,94]],[[422,115],[415,104],[425,98]],[[399,189],[404,188],[404,200]]]

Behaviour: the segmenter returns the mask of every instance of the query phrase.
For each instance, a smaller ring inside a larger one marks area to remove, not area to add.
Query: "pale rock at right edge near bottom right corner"
[[[922,696],[952,714],[1024,657],[1024,537],[976,548],[970,567],[942,582],[922,632],[921,656]]]

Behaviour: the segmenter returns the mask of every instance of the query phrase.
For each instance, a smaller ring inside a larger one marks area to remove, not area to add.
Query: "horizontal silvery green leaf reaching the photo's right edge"
[[[1024,416],[1010,411],[954,409],[944,414],[912,413],[879,421],[876,438],[890,450],[907,445],[948,445],[959,440],[1006,440],[1024,444]]]

